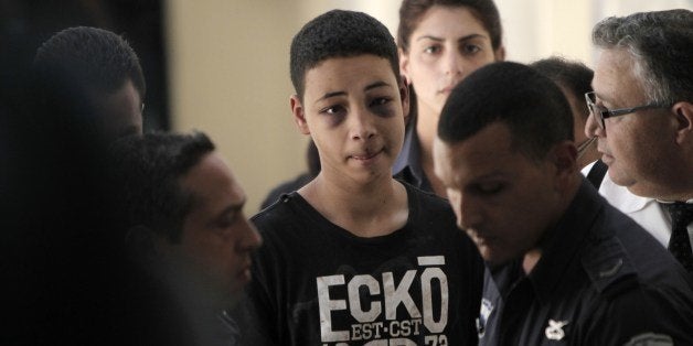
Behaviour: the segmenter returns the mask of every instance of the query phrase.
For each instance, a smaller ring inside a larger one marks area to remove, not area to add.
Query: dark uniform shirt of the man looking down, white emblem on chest
[[[583,181],[529,275],[487,271],[479,327],[481,345],[693,345],[693,283]]]

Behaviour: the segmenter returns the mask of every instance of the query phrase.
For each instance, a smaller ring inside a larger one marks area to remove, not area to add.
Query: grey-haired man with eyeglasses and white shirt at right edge
[[[608,18],[593,41],[585,131],[608,166],[599,192],[693,272],[693,12]]]

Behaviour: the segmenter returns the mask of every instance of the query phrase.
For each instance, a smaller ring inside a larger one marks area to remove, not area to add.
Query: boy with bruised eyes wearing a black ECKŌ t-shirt
[[[387,29],[334,10],[290,52],[294,119],[321,171],[253,217],[265,246],[244,344],[476,344],[478,251],[444,199],[391,175],[409,100]]]

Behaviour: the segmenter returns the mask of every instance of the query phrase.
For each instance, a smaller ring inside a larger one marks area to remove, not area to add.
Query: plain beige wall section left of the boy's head
[[[212,138],[248,196],[303,170],[305,139],[291,121],[292,1],[171,0],[168,4],[172,123]]]

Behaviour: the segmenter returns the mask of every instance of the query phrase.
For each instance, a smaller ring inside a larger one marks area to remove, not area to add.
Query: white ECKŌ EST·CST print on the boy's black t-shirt
[[[322,345],[448,345],[448,279],[441,266],[445,256],[424,256],[401,279],[390,271],[317,278]]]

